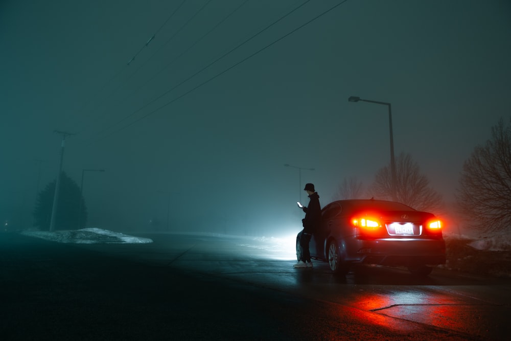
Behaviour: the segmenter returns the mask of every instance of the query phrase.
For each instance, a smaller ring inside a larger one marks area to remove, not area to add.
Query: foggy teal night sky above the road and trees
[[[105,170],[89,226],[299,231],[306,183],[324,205],[389,163],[387,107],[350,96],[392,104],[396,155],[451,202],[510,60],[507,0],[3,0],[0,218],[31,225],[59,130],[78,185]]]

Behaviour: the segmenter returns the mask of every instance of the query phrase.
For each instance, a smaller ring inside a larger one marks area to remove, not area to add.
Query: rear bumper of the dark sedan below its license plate
[[[446,262],[443,239],[358,240],[346,260],[388,266],[438,265]]]

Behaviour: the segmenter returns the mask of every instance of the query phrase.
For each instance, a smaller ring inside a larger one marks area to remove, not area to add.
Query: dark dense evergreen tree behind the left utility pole
[[[42,231],[50,230],[50,220],[52,217],[53,197],[55,195],[56,180],[51,181],[38,194],[34,209],[34,225]],[[81,219],[78,221],[81,200]],[[62,172],[60,176],[60,192],[55,216],[56,230],[75,230],[81,229],[87,222],[87,208],[85,200],[80,197],[80,187],[76,182]]]

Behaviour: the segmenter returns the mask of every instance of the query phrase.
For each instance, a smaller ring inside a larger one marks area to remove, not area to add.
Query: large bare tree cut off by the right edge
[[[511,118],[507,127],[501,118],[464,162],[455,197],[473,229],[511,231]]]

